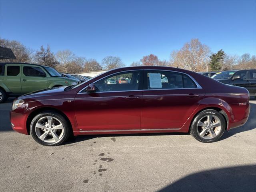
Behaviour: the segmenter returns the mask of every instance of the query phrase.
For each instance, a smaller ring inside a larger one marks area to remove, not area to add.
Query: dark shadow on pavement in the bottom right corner
[[[159,192],[255,192],[256,165],[206,170],[188,175]]]

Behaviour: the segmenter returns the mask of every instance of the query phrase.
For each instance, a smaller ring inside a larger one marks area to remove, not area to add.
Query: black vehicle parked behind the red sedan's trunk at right
[[[212,78],[224,84],[244,87],[251,96],[256,96],[256,69],[218,72]]]

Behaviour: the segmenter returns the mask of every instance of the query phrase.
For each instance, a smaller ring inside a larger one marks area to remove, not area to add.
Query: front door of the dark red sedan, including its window
[[[128,78],[126,83],[118,83]],[[115,79],[116,84],[108,84]],[[96,92],[80,91],[75,98],[75,115],[80,132],[140,129],[143,70],[109,75],[94,82]]]

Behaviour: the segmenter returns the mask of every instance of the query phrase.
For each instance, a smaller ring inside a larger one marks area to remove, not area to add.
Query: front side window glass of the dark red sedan
[[[95,83],[96,92],[140,90],[141,71],[121,72]]]

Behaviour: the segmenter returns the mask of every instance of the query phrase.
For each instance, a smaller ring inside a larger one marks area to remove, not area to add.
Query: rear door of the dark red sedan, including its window
[[[179,130],[204,95],[200,85],[187,74],[145,70],[141,129]]]

